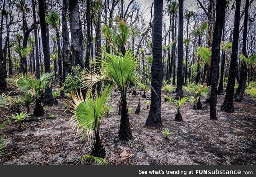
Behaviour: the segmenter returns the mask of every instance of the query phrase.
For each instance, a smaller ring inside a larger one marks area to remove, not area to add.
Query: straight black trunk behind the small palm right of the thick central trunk
[[[178,34],[178,67],[177,67],[177,88],[176,88],[176,98],[183,97],[183,0],[179,1],[179,34]]]

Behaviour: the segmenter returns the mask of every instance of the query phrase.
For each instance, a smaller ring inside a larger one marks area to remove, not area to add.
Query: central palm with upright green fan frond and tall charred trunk
[[[92,87],[98,81],[110,80],[116,87],[120,95],[120,127],[119,139],[127,141],[132,139],[132,130],[130,128],[128,115],[128,96],[127,91],[130,83],[135,84],[138,81],[138,60],[132,51],[126,51],[124,56],[111,55],[102,53],[102,59],[97,61],[98,65],[102,65],[102,75],[96,73],[87,73],[85,77],[85,85]]]

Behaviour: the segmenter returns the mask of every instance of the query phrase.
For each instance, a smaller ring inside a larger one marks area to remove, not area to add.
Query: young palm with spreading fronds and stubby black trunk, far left
[[[43,91],[50,87],[50,80],[53,76],[54,73],[44,73],[40,79],[36,79],[36,76],[31,74],[14,75],[8,79],[8,83],[17,87],[19,92],[31,91],[36,104],[34,114],[35,116],[42,116],[44,115],[44,109],[41,105]]]

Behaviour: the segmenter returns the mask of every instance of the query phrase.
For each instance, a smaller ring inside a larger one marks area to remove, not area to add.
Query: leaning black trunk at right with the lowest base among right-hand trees
[[[225,19],[226,0],[217,0],[216,2],[216,23],[212,40],[212,62],[211,62],[211,94],[210,94],[210,119],[217,119],[216,116],[216,100],[217,100],[217,74],[218,61],[220,60],[220,42],[223,29],[223,21]]]

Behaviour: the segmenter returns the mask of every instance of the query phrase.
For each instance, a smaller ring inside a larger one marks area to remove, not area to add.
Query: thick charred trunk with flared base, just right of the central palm
[[[162,88],[162,20],[163,0],[154,0],[153,61],[151,66],[151,104],[146,126],[161,126],[161,88]]]

